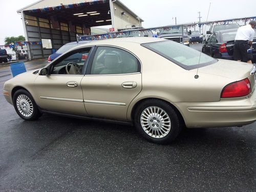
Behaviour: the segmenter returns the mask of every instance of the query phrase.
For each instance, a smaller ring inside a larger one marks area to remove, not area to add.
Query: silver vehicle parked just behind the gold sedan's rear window
[[[189,46],[189,35],[190,31],[188,32],[186,28],[183,29],[183,34],[182,34],[182,28],[180,27],[179,29],[177,28],[170,28],[170,29],[164,29],[161,30],[158,33],[159,38],[164,38],[168,40],[173,40],[175,42],[179,42],[180,44],[183,44],[185,46]]]

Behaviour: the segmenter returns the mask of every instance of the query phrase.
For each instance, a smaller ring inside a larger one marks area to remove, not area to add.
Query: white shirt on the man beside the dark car
[[[254,36],[254,29],[251,25],[245,25],[238,29],[237,35],[234,40],[249,40],[252,41]]]

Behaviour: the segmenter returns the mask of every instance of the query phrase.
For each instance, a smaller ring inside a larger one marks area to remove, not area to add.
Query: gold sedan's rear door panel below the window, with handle
[[[82,79],[81,87],[89,115],[126,120],[129,104],[142,89],[141,73],[88,75]]]

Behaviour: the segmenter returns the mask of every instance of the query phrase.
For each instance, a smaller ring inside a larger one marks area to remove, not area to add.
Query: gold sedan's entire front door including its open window
[[[47,68],[49,75],[38,75],[35,80],[37,104],[40,108],[86,115],[83,104],[82,69],[88,62],[91,47],[78,48],[61,56]]]

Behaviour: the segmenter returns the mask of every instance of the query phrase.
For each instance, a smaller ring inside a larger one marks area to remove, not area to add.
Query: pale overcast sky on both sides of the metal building
[[[22,20],[16,10],[34,2],[36,0],[0,0],[0,45],[4,45],[6,36],[24,35]],[[177,24],[197,22],[199,11],[201,20],[206,20],[210,2],[208,20],[256,16],[255,0],[121,0],[121,2],[144,20],[142,26],[145,28],[175,24],[173,17],[177,18]]]

